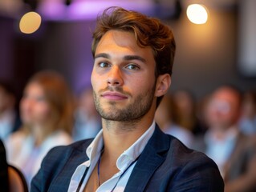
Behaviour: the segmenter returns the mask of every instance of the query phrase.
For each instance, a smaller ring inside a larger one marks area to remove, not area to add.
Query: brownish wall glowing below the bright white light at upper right
[[[201,97],[222,84],[242,86],[236,67],[238,25],[234,10],[211,10],[205,25],[189,22],[185,14],[169,25],[177,40],[171,90],[185,88]]]

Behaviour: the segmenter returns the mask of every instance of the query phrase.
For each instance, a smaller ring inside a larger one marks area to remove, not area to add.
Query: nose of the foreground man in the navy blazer
[[[112,66],[108,74],[108,86],[122,86],[124,83],[122,71],[119,66]]]

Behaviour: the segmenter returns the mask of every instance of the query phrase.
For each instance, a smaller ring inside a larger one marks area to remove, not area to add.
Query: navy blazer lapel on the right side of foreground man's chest
[[[152,174],[165,161],[165,154],[168,150],[169,137],[163,134],[156,125],[152,138],[148,141],[142,154],[140,154],[138,162],[136,162],[136,166],[132,170],[124,192],[143,191]]]

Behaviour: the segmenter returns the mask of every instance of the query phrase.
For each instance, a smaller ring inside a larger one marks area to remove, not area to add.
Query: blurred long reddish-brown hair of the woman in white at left
[[[54,130],[64,130],[71,134],[74,100],[63,76],[54,71],[41,71],[30,78],[28,84],[30,83],[38,83],[43,88],[51,108],[52,114],[49,121],[52,125],[47,127],[49,130],[46,130],[45,137]]]

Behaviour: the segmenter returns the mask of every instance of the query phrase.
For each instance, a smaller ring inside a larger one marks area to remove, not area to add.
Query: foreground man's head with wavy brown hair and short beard
[[[91,84],[100,115],[136,121],[154,114],[171,82],[175,42],[169,27],[112,7],[98,18],[91,48]]]

